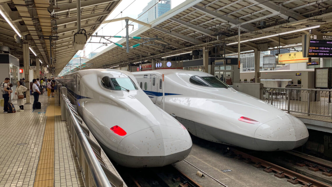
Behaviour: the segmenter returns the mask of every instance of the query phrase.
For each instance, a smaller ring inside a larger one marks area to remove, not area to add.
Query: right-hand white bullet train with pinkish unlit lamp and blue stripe
[[[153,103],[165,104],[167,113],[202,139],[257,151],[292,150],[308,139],[300,120],[211,74],[152,70],[133,75]]]

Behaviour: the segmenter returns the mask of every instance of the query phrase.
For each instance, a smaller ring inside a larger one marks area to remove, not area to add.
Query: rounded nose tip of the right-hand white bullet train
[[[292,150],[305,144],[308,137],[304,123],[291,115],[268,121],[255,132],[257,145],[265,151]]]

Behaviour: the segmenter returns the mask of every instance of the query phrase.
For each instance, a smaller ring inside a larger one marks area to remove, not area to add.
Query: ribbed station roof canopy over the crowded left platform
[[[120,2],[121,0],[81,1],[81,28],[86,30],[88,37]],[[51,14],[52,7],[54,13]],[[44,66],[50,65],[52,45],[52,58],[57,71],[61,71],[77,52],[72,47],[72,37],[77,32],[76,1],[0,0],[0,10],[5,15],[0,16],[0,45],[10,47],[11,54],[20,59],[21,65],[23,42],[29,42]],[[5,20],[7,18],[23,36],[22,39],[15,37],[17,34]],[[57,40],[50,43],[49,36],[57,36]],[[34,56],[30,51],[30,57],[35,61]]]

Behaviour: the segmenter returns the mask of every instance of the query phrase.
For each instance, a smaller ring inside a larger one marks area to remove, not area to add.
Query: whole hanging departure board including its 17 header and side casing
[[[303,35],[302,54],[303,57],[332,58],[332,36]]]

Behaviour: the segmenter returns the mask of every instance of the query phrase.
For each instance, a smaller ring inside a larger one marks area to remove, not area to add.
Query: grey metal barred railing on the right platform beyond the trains
[[[288,112],[332,118],[332,90],[264,87],[262,100]]]

